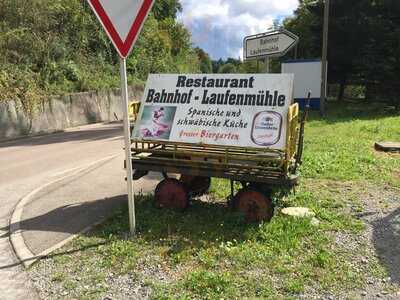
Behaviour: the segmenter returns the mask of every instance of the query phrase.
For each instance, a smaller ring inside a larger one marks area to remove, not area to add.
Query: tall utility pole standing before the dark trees
[[[321,114],[326,111],[326,91],[328,85],[328,38],[329,38],[329,0],[324,3],[324,32],[322,45]]]

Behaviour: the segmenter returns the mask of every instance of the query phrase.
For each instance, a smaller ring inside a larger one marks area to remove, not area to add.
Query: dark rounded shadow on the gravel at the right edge
[[[373,243],[392,282],[400,284],[400,208],[373,222]]]

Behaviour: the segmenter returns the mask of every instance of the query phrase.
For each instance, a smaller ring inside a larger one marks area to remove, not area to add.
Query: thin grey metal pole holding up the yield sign
[[[121,58],[121,93],[122,104],[124,107],[124,131],[125,131],[125,159],[126,159],[126,183],[128,185],[128,203],[129,203],[129,227],[132,235],[136,230],[135,218],[135,196],[132,182],[132,159],[131,159],[131,126],[128,113],[128,78],[126,74],[126,58]]]

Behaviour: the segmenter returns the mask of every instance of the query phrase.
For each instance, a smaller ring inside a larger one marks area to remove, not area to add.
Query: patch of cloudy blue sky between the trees
[[[243,38],[292,15],[298,0],[181,0],[179,20],[212,59],[242,57]]]

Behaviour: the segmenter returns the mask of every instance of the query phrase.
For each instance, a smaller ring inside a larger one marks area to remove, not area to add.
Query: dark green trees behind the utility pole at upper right
[[[363,85],[369,100],[400,108],[400,2],[331,0],[329,81]],[[284,26],[299,35],[299,58],[321,57],[324,2],[305,0]]]

